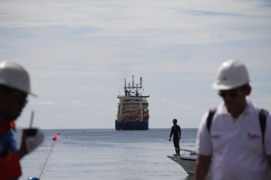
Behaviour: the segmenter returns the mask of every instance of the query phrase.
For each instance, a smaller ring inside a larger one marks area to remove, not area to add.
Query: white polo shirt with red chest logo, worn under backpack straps
[[[213,116],[210,133],[206,127],[209,112],[203,115],[196,144],[199,154],[212,154],[212,179],[270,179],[261,142],[259,110],[247,98],[244,111],[233,119],[221,102]],[[271,155],[270,114],[266,118],[264,149],[267,155]]]

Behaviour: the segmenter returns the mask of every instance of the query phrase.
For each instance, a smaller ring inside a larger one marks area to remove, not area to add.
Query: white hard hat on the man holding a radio
[[[14,62],[0,62],[0,84],[37,96],[30,91],[28,72]]]

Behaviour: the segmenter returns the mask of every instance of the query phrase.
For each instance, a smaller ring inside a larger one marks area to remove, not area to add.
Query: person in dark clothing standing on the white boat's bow
[[[170,138],[169,141],[171,141],[171,136],[173,134],[173,143],[175,147],[176,154],[173,154],[175,156],[180,156],[180,145],[179,141],[181,139],[181,127],[177,125],[177,119],[173,119],[173,126],[171,127],[171,132],[170,132]]]

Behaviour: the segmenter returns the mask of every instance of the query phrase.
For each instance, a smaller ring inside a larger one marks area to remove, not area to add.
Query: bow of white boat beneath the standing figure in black
[[[189,175],[194,175],[194,167],[196,165],[196,159],[198,154],[194,150],[180,149],[180,156],[168,155],[170,159],[180,164]]]

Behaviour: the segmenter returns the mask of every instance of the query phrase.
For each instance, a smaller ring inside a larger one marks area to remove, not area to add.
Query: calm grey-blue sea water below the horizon
[[[85,132],[83,132],[85,130]],[[167,155],[170,128],[43,129],[42,145],[21,161],[23,175],[53,179],[193,179]],[[57,132],[60,132],[58,135]],[[197,128],[182,128],[180,147],[195,150]],[[22,131],[15,133],[17,145]],[[52,137],[56,135],[57,140]],[[45,165],[46,163],[46,165]]]

